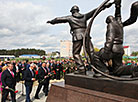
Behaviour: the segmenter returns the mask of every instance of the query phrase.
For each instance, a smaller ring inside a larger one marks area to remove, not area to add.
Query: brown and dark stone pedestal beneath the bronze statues
[[[68,74],[52,84],[46,102],[138,102],[138,82]]]

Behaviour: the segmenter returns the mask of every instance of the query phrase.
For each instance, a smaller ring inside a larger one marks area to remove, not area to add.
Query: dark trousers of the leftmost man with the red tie
[[[13,89],[15,89],[15,88],[13,88]],[[6,102],[6,99],[7,99],[8,95],[9,95],[9,92],[11,94],[12,102],[16,102],[15,93],[13,91],[10,91],[10,90],[7,90],[7,89],[3,89],[3,91],[2,91],[2,101],[1,102]]]

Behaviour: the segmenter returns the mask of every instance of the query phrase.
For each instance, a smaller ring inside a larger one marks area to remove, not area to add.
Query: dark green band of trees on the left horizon
[[[12,50],[5,50],[5,49],[1,49],[0,50],[0,55],[14,55],[16,57],[19,57],[20,55],[23,54],[37,54],[37,55],[45,55],[45,51],[44,50],[40,50],[40,49],[12,49]]]

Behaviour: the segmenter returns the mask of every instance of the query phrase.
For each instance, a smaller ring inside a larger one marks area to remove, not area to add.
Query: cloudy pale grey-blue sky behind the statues
[[[46,52],[59,51],[61,40],[72,40],[68,23],[50,25],[55,17],[71,15],[78,5],[85,14],[104,0],[0,0],[0,49],[36,48]],[[110,0],[113,1],[113,0]],[[137,0],[122,0],[122,21],[129,18],[130,7]],[[114,5],[102,11],[94,20],[91,37],[94,46],[104,46],[105,19],[114,15]],[[138,21],[124,28],[124,45],[138,51]]]

